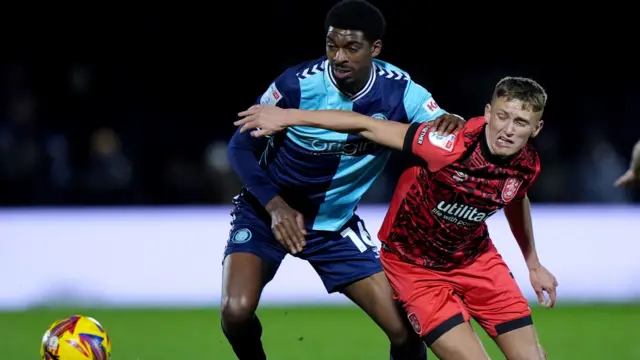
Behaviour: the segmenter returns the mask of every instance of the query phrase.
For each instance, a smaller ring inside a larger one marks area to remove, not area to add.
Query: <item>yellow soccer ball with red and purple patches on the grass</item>
[[[41,360],[109,360],[111,340],[102,325],[74,315],[54,322],[42,337]]]

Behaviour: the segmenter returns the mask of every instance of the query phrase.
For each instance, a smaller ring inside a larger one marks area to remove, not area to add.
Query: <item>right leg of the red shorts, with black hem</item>
[[[533,325],[529,303],[495,249],[461,271],[465,306],[489,336]]]

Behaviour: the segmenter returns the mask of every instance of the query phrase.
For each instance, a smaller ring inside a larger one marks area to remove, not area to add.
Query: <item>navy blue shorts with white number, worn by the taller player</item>
[[[247,197],[251,196],[241,195],[236,201],[224,256],[251,253],[275,273],[289,252],[273,236],[264,208]],[[380,251],[357,215],[340,231],[308,231],[306,240],[304,250],[294,256],[309,261],[329,293],[382,271]]]

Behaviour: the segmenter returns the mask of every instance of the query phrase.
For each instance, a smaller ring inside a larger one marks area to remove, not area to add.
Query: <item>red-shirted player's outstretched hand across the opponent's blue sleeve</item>
[[[240,132],[251,131],[251,136],[271,136],[287,127],[287,111],[273,105],[253,105],[238,113],[242,119],[234,122]]]

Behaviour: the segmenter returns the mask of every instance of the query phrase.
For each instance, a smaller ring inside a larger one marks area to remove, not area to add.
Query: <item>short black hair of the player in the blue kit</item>
[[[325,30],[329,27],[362,31],[369,42],[382,39],[387,24],[380,10],[365,0],[342,0],[327,13]]]

